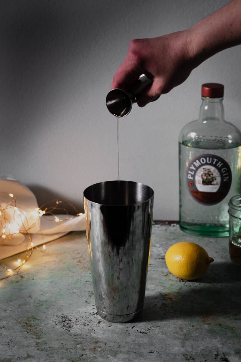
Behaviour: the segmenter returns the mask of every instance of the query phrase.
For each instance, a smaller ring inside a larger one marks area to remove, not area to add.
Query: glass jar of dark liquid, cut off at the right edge
[[[241,194],[229,201],[229,256],[231,261],[241,265]]]

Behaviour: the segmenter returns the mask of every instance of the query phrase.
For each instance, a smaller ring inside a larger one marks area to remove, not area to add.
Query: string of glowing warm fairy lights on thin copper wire
[[[15,197],[12,193],[0,192],[0,194],[5,194],[9,197],[9,202],[0,201],[0,255],[1,255],[1,245],[6,244],[6,241],[9,241],[20,234],[26,236],[28,238],[28,244],[25,250],[25,255],[20,258],[20,255],[23,253],[19,253],[17,256],[17,260],[15,261],[15,268],[9,268],[9,266],[3,265],[0,262],[0,280],[7,279],[12,277],[13,275],[17,275],[22,269],[23,265],[25,265],[31,255],[33,254],[34,249],[37,249],[40,252],[46,252],[46,245],[44,244],[44,236],[41,232],[40,228],[40,218],[46,215],[52,215],[56,223],[64,222],[65,220],[71,220],[74,216],[83,215],[81,212],[78,212],[76,208],[69,202],[63,202],[59,200],[50,201],[41,207],[35,208],[31,213],[35,217],[35,221],[29,224],[29,219],[27,218],[25,212],[17,207],[17,197]],[[47,206],[51,204],[50,206]],[[75,215],[69,215],[68,211],[64,207],[64,205],[70,206]],[[8,211],[13,213],[13,220],[9,220],[7,213]],[[60,219],[55,213],[56,211],[61,211],[66,215],[64,219]],[[14,221],[14,223],[13,223]],[[13,225],[14,224],[14,225]],[[39,232],[42,235],[43,243],[39,246],[34,246],[32,237],[31,237],[31,229],[33,229],[36,224],[39,226]],[[4,273],[4,276],[1,277],[1,272]]]

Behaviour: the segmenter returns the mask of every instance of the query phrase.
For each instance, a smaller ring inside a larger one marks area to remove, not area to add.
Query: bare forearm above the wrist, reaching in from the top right
[[[189,29],[189,54],[197,67],[217,52],[241,44],[241,0],[233,0]]]

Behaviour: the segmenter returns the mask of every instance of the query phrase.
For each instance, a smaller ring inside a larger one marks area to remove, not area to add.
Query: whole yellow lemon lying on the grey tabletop
[[[188,241],[172,245],[166,252],[165,260],[172,274],[187,280],[203,277],[214,261],[200,245]]]

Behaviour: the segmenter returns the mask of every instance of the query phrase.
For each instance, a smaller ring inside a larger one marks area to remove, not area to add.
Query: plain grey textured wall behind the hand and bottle
[[[27,184],[39,203],[117,178],[116,120],[105,97],[133,38],[186,29],[224,0],[1,1],[1,174]],[[178,219],[177,139],[198,117],[201,84],[225,85],[225,114],[240,125],[241,47],[120,121],[121,179],[155,190],[155,219]]]

